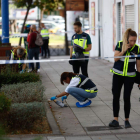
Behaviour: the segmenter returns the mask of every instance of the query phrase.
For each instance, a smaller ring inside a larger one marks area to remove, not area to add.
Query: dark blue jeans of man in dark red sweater
[[[39,53],[40,53],[40,48],[31,48],[29,49],[29,60],[33,60],[33,57],[35,60],[39,60]],[[30,63],[30,66],[32,70],[34,70],[34,63]],[[36,69],[40,69],[40,63],[36,63]]]

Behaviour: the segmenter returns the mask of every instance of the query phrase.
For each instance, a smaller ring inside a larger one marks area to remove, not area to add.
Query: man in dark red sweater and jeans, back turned
[[[32,25],[31,26],[31,34],[30,34],[30,39],[29,39],[29,60],[33,60],[33,58],[35,58],[35,60],[39,60],[39,53],[40,53],[40,46],[36,45],[36,39],[37,39],[37,35],[39,34],[39,32],[36,30],[36,25]],[[34,63],[30,63],[32,71],[34,71]],[[40,63],[37,62],[36,63],[36,71],[40,72]]]

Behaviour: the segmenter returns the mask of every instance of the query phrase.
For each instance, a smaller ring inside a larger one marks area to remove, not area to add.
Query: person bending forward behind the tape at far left
[[[11,60],[27,60],[27,51],[22,47],[14,47],[11,50]],[[26,64],[20,63],[18,64],[18,71],[20,73],[24,73],[26,69]]]

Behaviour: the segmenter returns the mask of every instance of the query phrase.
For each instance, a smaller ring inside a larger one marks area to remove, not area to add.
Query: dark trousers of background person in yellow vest
[[[49,39],[43,40],[43,45],[41,47],[41,56],[45,53],[45,57],[48,55],[50,57],[50,50],[49,50]]]

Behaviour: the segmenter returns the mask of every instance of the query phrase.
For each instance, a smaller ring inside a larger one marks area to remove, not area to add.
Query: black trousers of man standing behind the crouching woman
[[[84,62],[76,61],[72,66],[74,73],[79,73],[81,68],[82,74],[88,77],[88,60]]]

